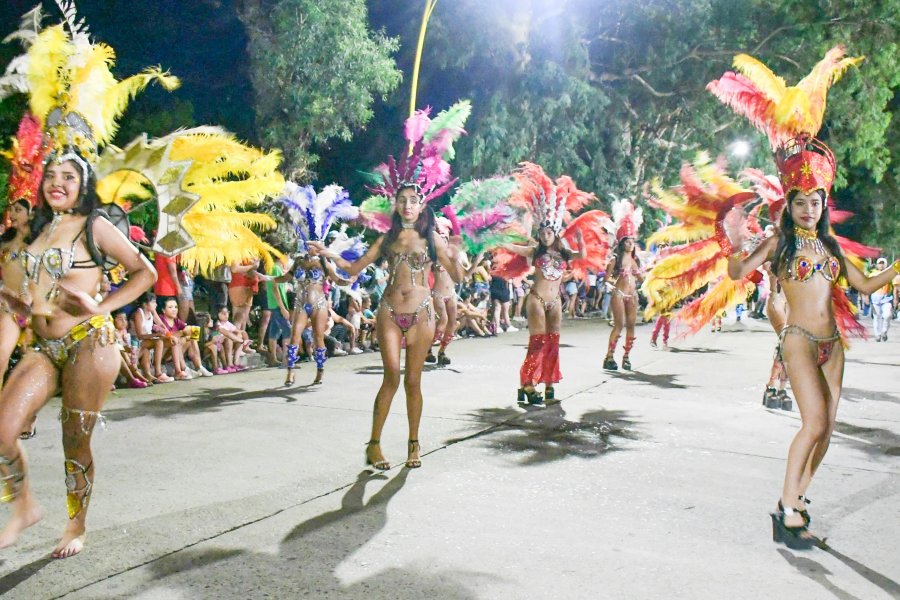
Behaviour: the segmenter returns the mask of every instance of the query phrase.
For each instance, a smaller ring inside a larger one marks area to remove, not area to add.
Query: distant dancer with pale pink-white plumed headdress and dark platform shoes
[[[604,282],[613,285],[610,306],[613,312],[613,328],[609,333],[609,346],[603,368],[616,371],[614,354],[622,329],[625,330],[625,344],[622,354],[622,368],[631,370],[631,349],[637,339],[634,325],[637,321],[638,285],[644,280],[644,271],[637,255],[637,233],[643,222],[643,210],[635,208],[628,200],[616,200],[612,206],[616,225],[616,249],[606,265]]]

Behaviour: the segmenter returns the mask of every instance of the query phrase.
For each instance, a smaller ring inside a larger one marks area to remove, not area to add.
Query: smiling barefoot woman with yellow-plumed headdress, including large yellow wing
[[[123,215],[122,196],[147,194],[149,182],[159,212],[176,217],[160,221],[154,250],[175,254],[196,241],[197,247],[186,253],[195,263],[205,264],[210,257],[240,259],[244,252],[258,255],[265,249],[253,242],[247,224],[268,222],[252,213],[237,215],[233,208],[283,185],[273,173],[277,155],[242,152],[240,144],[215,128],[180,131],[154,142],[142,136],[126,151],[107,145],[130,97],[153,81],[174,89],[178,80],[150,68],[117,81],[111,73],[112,48],[91,42],[74,10],[67,10],[66,18],[65,25],[20,37],[28,50],[17,59],[23,67],[18,89],[29,94],[31,113],[43,120],[46,155],[42,205],[28,246],[4,269],[2,290],[7,310],[31,315],[36,350],[16,365],[0,399],[0,497],[12,504],[0,547],[15,542],[42,516],[16,438],[61,389],[69,521],[54,558],[77,554],[84,546],[96,471],[91,435],[104,422],[100,410],[121,363],[110,313],[134,301],[156,278],[152,265],[126,236],[131,233],[127,220],[117,219],[119,224],[113,225],[106,211]],[[107,147],[98,154],[102,145]],[[136,181],[136,174],[142,181]],[[235,177],[225,183],[225,174]],[[267,180],[277,187],[260,184]],[[234,184],[239,189],[229,187]],[[229,204],[223,208],[222,203]],[[105,210],[98,210],[101,204]],[[220,243],[224,239],[227,243]],[[241,241],[244,249],[229,249]],[[105,272],[117,265],[127,279],[98,301]],[[85,381],[92,384],[78,384]]]

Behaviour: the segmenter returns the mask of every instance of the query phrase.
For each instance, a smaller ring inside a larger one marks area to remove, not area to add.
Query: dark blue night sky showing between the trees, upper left
[[[380,158],[396,151],[400,127],[405,118],[411,72],[409,40],[418,28],[419,8],[409,2],[384,0],[370,2],[370,19],[375,29],[384,28],[391,36],[401,36],[403,48],[396,57],[404,72],[404,81],[387,102],[376,100],[375,118],[354,140],[317,146],[321,156],[316,165],[319,183],[336,181],[357,187],[357,171],[373,165],[372,147],[381,147]],[[33,0],[4,0],[0,8],[0,36],[17,28],[19,18],[35,5]],[[62,16],[53,2],[45,1],[45,24],[60,22]],[[119,77],[132,75],[146,66],[161,65],[181,78],[182,86],[169,93],[151,86],[129,106],[122,120],[121,134],[116,140],[125,143],[139,133],[141,114],[167,108],[173,102],[189,102],[193,122],[166,123],[175,127],[213,124],[222,125],[242,139],[256,142],[252,114],[253,89],[248,75],[247,36],[235,12],[234,0],[82,0],[78,11],[90,28],[93,39],[111,45],[117,54],[115,72]],[[399,18],[398,18],[399,17]],[[392,22],[393,21],[393,22]],[[399,22],[398,22],[399,21]],[[407,43],[409,42],[409,43]],[[404,52],[406,50],[407,52]],[[6,44],[2,56],[5,63],[18,53],[16,44]],[[420,97],[442,106],[443,100],[428,94],[427,78],[420,84]],[[439,90],[438,96],[447,95]],[[448,95],[447,105],[457,98]],[[177,118],[176,118],[177,120]],[[154,134],[166,131],[151,132]],[[395,141],[396,140],[396,141]],[[365,158],[363,158],[365,155]],[[355,185],[356,184],[356,185]]]

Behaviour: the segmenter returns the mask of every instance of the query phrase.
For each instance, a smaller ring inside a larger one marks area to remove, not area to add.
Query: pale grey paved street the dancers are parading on
[[[892,334],[900,340],[900,324]],[[65,523],[59,399],[26,443],[46,515],[0,552],[4,598],[900,598],[900,342],[856,342],[809,496],[829,550],[771,541],[796,412],[760,405],[775,335],[726,323],[635,371],[609,327],[567,323],[561,403],[516,406],[527,332],[450,347],[425,374],[423,467],[363,469],[375,354],[316,388],[284,372],[110,397],[85,551]],[[406,455],[402,390],[383,436]],[[3,518],[8,514],[4,507]]]

